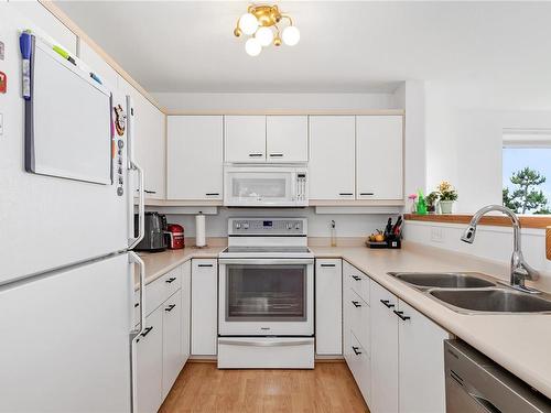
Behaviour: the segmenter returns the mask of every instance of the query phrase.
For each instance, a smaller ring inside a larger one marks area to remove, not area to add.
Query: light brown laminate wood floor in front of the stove
[[[314,370],[218,370],[213,362],[188,362],[161,413],[369,413],[344,362],[320,362]]]

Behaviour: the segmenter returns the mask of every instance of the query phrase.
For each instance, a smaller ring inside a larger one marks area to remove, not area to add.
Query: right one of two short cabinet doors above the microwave
[[[266,117],[268,162],[307,162],[307,116]]]

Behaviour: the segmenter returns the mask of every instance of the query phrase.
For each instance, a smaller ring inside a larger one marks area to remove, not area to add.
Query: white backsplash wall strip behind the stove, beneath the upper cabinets
[[[366,237],[377,228],[383,229],[389,214],[360,214],[360,215],[318,215],[314,208],[276,208],[276,209],[245,209],[245,208],[219,208],[217,215],[206,216],[207,237],[226,237],[228,235],[229,217],[306,217],[309,219],[309,237],[331,237],[329,222],[336,222],[337,237]],[[193,215],[169,215],[171,224],[184,226],[186,237],[195,237],[195,216]],[[393,219],[396,220],[396,218]]]

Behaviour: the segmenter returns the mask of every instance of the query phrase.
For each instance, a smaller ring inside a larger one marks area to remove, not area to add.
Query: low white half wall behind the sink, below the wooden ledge
[[[512,229],[479,226],[476,239],[469,244],[460,240],[464,225],[406,221],[403,233],[407,241],[421,242],[436,248],[463,252],[504,264],[501,279],[509,280],[508,263],[512,253]],[[545,259],[545,231],[522,229],[522,251],[527,262],[541,271],[537,287],[551,292],[551,261]]]

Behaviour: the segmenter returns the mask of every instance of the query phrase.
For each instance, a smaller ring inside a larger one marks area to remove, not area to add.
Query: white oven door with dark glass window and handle
[[[220,259],[220,336],[312,336],[313,259]]]

